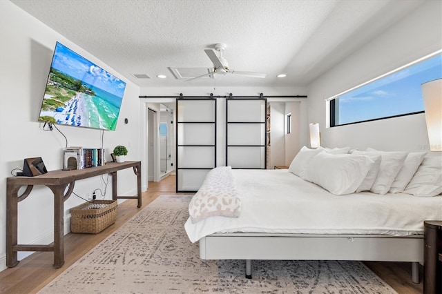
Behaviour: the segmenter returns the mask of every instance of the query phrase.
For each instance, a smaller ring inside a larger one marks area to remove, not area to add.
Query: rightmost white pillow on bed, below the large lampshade
[[[410,183],[403,191],[418,197],[433,197],[442,193],[442,155],[423,157]]]

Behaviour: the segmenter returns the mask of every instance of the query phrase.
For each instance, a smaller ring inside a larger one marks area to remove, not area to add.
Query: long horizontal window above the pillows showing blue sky
[[[411,65],[330,98],[330,126],[423,112],[421,84],[442,77],[442,55]]]

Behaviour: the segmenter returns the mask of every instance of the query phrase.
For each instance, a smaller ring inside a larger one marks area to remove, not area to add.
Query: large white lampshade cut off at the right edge
[[[430,150],[442,151],[442,79],[421,85]]]

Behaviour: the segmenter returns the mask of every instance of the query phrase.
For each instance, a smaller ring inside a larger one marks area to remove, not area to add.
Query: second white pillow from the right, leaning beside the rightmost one
[[[410,183],[414,173],[416,173],[416,170],[421,165],[425,154],[425,152],[408,153],[401,170],[399,170],[396,179],[394,179],[394,182],[390,187],[390,193],[402,193],[403,190],[405,190],[405,187]]]

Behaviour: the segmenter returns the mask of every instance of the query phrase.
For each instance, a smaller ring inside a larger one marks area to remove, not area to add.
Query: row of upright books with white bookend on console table
[[[64,150],[64,169],[104,166],[104,148],[68,147]]]

